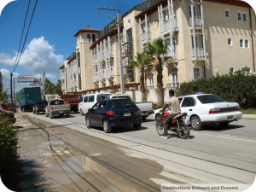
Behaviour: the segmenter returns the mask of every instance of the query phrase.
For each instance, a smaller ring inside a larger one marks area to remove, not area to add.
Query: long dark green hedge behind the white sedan
[[[238,102],[241,108],[256,108],[256,76],[244,71],[185,82],[177,89],[177,96],[195,92],[211,93],[224,101]]]

